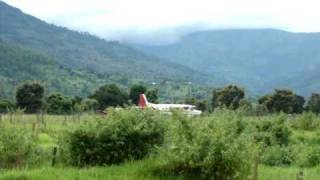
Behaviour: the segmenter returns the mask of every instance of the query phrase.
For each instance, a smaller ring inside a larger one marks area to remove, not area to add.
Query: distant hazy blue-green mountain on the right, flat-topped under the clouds
[[[320,91],[320,33],[272,29],[203,31],[169,45],[136,45],[145,53],[225,77],[252,94],[277,87]]]

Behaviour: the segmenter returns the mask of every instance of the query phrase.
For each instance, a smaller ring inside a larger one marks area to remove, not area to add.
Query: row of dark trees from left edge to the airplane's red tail
[[[73,112],[105,110],[112,106],[138,104],[139,95],[146,93],[150,102],[157,102],[156,89],[147,90],[143,85],[133,85],[129,92],[116,84],[107,84],[88,97],[68,97],[61,93],[51,93],[45,96],[45,88],[38,82],[28,82],[17,87],[16,102],[0,99],[0,113],[12,109],[22,109],[26,113],[45,112],[49,114],[70,114]]]

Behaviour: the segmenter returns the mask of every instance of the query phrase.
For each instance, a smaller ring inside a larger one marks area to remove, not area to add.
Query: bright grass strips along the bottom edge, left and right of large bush
[[[155,174],[154,168],[157,162],[154,160],[128,162],[119,166],[73,168],[73,167],[45,167],[32,170],[0,171],[0,180],[174,180],[197,179],[170,174]],[[299,171],[303,171],[303,179],[320,179],[320,167],[300,169],[297,167],[259,167],[259,180],[295,180]]]

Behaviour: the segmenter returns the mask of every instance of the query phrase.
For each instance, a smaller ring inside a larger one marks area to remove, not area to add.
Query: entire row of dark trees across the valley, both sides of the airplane
[[[88,97],[67,97],[61,93],[45,96],[45,88],[38,82],[28,82],[16,90],[16,102],[0,100],[0,113],[20,108],[26,113],[46,112],[49,114],[70,114],[73,112],[105,110],[108,107],[137,105],[139,95],[145,93],[148,100],[158,102],[158,90],[147,89],[141,84],[132,85],[125,91],[116,84],[107,84],[95,90]],[[236,110],[245,108],[255,110],[256,114],[284,112],[288,114],[312,111],[320,113],[320,94],[313,93],[306,102],[303,96],[287,89],[275,89],[274,92],[261,96],[257,103],[246,98],[245,90],[236,85],[216,88],[212,91],[211,102],[188,97],[184,103],[193,104],[202,111],[215,108]]]

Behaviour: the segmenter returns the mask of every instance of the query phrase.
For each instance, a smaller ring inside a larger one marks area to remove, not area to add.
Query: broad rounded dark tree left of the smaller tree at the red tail
[[[100,87],[89,98],[98,101],[98,109],[104,110],[110,106],[123,106],[128,102],[128,94],[119,89],[116,84]]]

